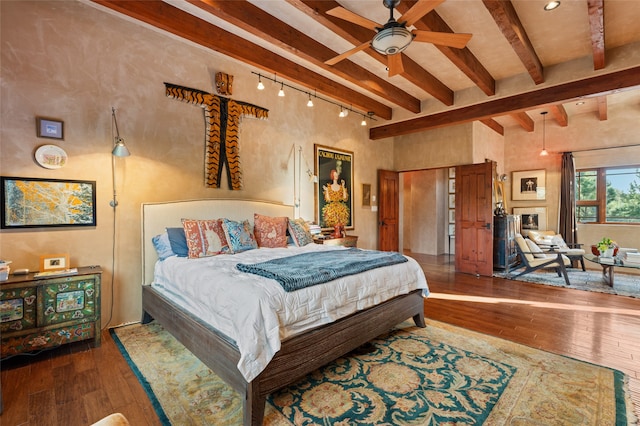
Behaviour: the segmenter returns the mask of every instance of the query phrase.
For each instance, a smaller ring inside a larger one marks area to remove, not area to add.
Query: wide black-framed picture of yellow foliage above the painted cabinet
[[[96,182],[0,177],[1,228],[96,226]]]

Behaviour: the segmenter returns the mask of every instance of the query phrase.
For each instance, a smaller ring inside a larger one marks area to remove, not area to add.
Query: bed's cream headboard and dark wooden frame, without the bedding
[[[264,366],[259,366],[257,373],[248,375],[245,370],[241,371],[240,367],[243,365],[241,361],[246,358],[242,339],[236,340],[230,337],[230,335],[233,336],[231,332],[227,331],[229,334],[226,334],[220,331],[225,329],[224,326],[220,329],[216,328],[212,325],[211,319],[196,315],[194,312],[197,312],[197,309],[193,309],[186,302],[175,300],[166,288],[155,282],[162,281],[155,278],[156,268],[162,262],[158,262],[151,240],[152,237],[161,234],[166,227],[181,226],[183,218],[251,220],[254,213],[273,217],[292,217],[293,207],[239,199],[187,200],[142,205],[142,320],[143,322],[156,320],[204,364],[244,396],[245,425],[262,424],[266,397],[270,393],[345,355],[408,318],[413,318],[417,326],[424,327],[424,297],[428,294],[422,271],[413,271],[417,264],[410,259],[407,263],[411,265],[408,267],[412,270],[408,276],[412,277],[415,274],[416,278],[408,281],[416,282],[402,286],[402,291],[406,293],[376,301],[372,306],[355,310],[332,322],[327,323],[325,318],[325,323],[321,325],[307,324],[291,335],[284,333],[285,338],[277,342],[278,349],[268,358],[268,362]],[[333,249],[344,248],[334,247]],[[256,254],[262,254],[262,251],[267,250],[272,249],[259,249]],[[323,248],[310,245],[306,250],[316,251]],[[224,260],[231,258],[227,257]],[[182,260],[174,261],[182,262]],[[192,260],[194,265],[200,261],[208,260]],[[184,268],[182,265],[184,264],[181,264],[180,268]],[[372,272],[367,271],[362,274],[369,273]],[[358,274],[350,279],[364,278],[364,275]],[[166,280],[171,281],[171,279]],[[280,334],[282,337],[283,333]]]

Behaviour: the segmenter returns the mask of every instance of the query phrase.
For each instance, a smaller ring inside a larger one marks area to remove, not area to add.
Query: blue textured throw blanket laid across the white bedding
[[[400,253],[349,248],[303,253],[254,264],[238,263],[236,268],[274,279],[285,291],[294,291],[403,262],[407,262],[407,258]]]

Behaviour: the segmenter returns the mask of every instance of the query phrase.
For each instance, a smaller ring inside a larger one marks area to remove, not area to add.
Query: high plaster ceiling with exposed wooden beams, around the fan
[[[93,0],[256,68],[265,76],[373,112],[380,139],[481,120],[496,132],[533,131],[541,111],[562,126],[576,114],[607,119],[608,106],[640,109],[640,3],[637,0],[402,0],[432,9],[410,29],[470,33],[466,48],[414,40],[403,71],[371,47],[324,62],[375,35],[326,12],[342,6],[381,26],[382,0]]]

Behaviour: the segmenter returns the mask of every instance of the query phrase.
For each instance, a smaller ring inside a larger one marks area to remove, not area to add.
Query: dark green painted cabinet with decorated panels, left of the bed
[[[100,345],[97,266],[71,276],[11,275],[0,283],[0,358],[93,339]]]

